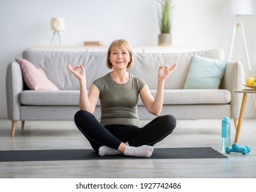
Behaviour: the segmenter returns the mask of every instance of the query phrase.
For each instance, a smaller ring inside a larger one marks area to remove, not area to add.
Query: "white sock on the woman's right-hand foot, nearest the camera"
[[[138,157],[150,157],[153,153],[153,147],[150,145],[142,145],[140,147],[133,147],[127,145],[125,148],[125,156],[138,156]]]

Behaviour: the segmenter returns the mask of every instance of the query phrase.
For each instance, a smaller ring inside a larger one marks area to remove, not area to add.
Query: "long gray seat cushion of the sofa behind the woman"
[[[153,96],[156,90],[151,90]],[[224,89],[164,90],[165,105],[229,104],[231,93]],[[22,91],[20,102],[32,106],[78,106],[79,91]],[[138,105],[142,106],[139,99]],[[100,106],[98,101],[97,106]]]

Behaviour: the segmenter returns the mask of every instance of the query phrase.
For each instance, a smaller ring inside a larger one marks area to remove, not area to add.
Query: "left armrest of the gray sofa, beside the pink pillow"
[[[7,114],[11,121],[20,120],[19,94],[24,89],[21,67],[17,62],[8,64],[6,71]]]

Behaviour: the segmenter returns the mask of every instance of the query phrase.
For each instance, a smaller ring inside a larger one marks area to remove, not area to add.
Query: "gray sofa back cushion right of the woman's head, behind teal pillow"
[[[130,71],[132,74],[142,77],[149,85],[149,88],[153,90],[158,86],[158,67],[164,64],[171,66],[171,64],[178,62],[178,67],[167,78],[164,88],[166,90],[182,89],[195,54],[205,58],[224,59],[224,51],[221,49],[185,53],[135,53],[134,67],[131,68]]]

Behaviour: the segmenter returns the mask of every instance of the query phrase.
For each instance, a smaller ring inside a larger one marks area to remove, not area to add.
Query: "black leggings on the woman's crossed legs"
[[[171,134],[176,126],[176,119],[172,115],[156,117],[143,128],[131,125],[103,126],[92,113],[86,110],[76,112],[74,121],[96,152],[102,145],[118,149],[122,142],[128,142],[129,145],[135,147],[153,146]]]

